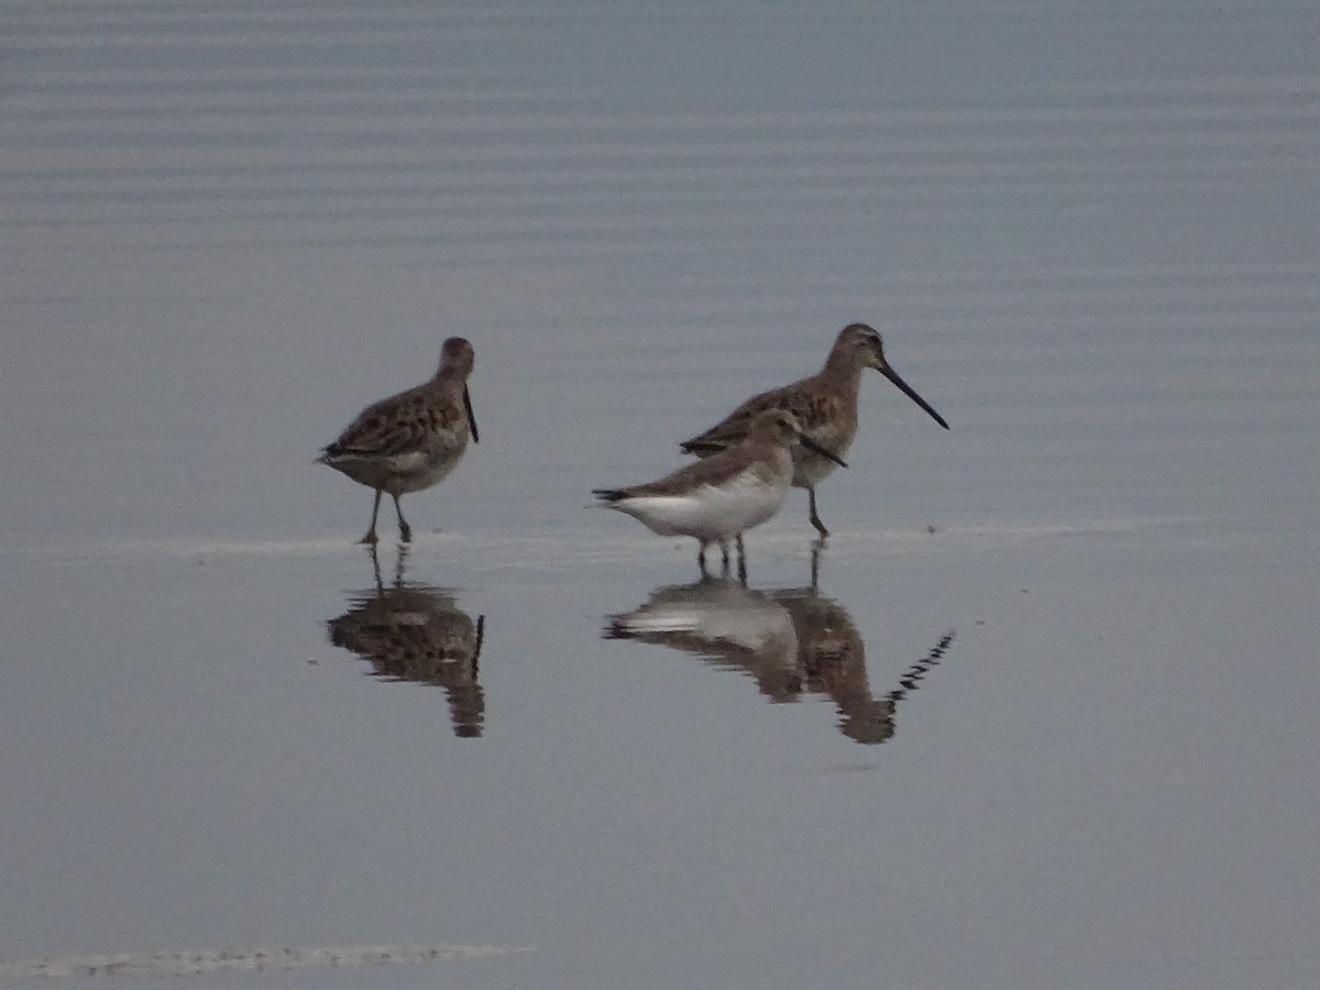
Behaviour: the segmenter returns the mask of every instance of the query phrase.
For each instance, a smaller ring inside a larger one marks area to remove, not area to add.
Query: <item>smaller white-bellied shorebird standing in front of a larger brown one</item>
[[[701,544],[697,561],[706,568],[706,546],[718,543],[729,566],[729,541],[739,540],[779,511],[793,478],[792,447],[847,467],[833,451],[804,436],[784,409],[755,416],[743,436],[718,453],[673,474],[628,488],[595,488],[607,508],[632,516],[660,536],[692,536]]]

